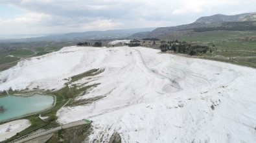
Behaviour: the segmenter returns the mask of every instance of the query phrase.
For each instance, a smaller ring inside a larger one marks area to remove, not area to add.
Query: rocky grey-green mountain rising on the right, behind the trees
[[[196,32],[207,30],[256,30],[255,22],[251,21],[256,21],[256,13],[237,14],[234,16],[216,14],[213,16],[200,17],[194,23],[187,25],[159,27],[152,30],[152,32],[137,33],[130,36],[130,38],[157,38],[162,35],[167,35],[170,32],[181,30],[194,30]]]

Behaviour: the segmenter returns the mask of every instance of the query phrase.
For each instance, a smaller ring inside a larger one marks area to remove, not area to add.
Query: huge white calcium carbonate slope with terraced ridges
[[[93,120],[89,141],[256,142],[256,71],[163,54],[144,47],[65,47],[1,72],[0,90],[59,89],[73,75],[104,69],[76,84],[100,83],[62,107],[58,122]],[[6,82],[3,83],[3,79]]]

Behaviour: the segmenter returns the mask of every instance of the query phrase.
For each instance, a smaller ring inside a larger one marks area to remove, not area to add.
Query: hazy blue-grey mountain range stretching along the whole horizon
[[[51,34],[36,38],[1,39],[2,41],[65,41],[79,39],[118,39],[118,38],[159,38],[175,31],[193,30],[204,32],[212,30],[256,30],[256,12],[226,16],[215,14],[198,18],[194,23],[174,27],[132,28],[106,31],[72,32]],[[167,36],[168,37],[168,36]]]

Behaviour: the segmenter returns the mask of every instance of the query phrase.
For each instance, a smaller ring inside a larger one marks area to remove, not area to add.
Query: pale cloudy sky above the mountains
[[[168,27],[255,8],[255,0],[0,0],[0,34]]]

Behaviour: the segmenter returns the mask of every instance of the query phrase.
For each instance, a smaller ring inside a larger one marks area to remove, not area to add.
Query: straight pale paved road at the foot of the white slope
[[[89,123],[90,123],[89,120],[79,120],[79,121],[76,121],[76,122],[72,122],[72,123],[69,123],[69,124],[65,124],[65,125],[63,125],[63,126],[59,126],[59,127],[53,128],[53,129],[49,129],[49,130],[47,130],[47,131],[43,131],[43,132],[41,132],[41,133],[36,133],[36,134],[34,134],[34,135],[30,135],[29,137],[25,137],[25,138],[22,138],[22,139],[20,139],[20,140],[14,140],[14,141],[12,141],[12,142],[15,142],[15,143],[26,142],[26,141],[31,140],[31,139],[33,139],[33,138],[38,138],[38,137],[41,137],[41,136],[43,136],[43,135],[47,135],[47,134],[49,134],[49,133],[53,133],[53,132],[58,131],[58,130],[60,130],[60,129],[62,129],[62,128],[63,128],[63,129],[67,129],[67,128],[69,128],[69,127],[75,127],[75,126],[79,126],[79,125],[82,125],[82,124],[89,124]]]

